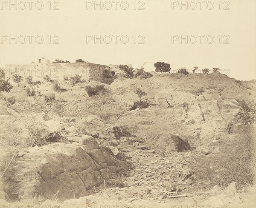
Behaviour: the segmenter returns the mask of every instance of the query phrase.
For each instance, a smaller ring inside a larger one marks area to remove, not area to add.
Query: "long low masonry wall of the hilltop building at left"
[[[51,79],[63,79],[64,76],[79,74],[83,79],[102,82],[103,71],[109,66],[94,63],[36,63],[29,65],[7,64],[3,71],[5,77],[19,74],[22,78],[33,76],[33,80],[42,80],[45,75]]]

